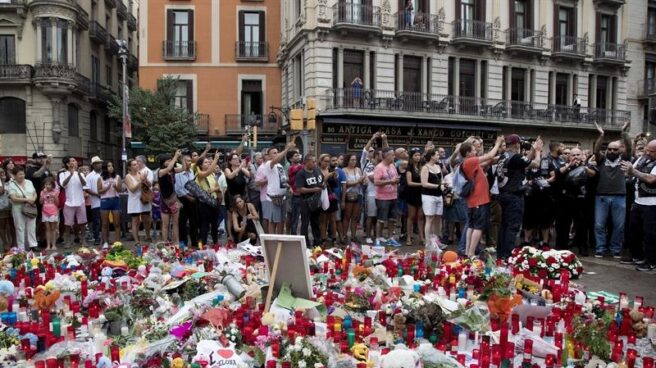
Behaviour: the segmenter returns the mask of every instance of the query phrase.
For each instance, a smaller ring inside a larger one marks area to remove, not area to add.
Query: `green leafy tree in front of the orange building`
[[[196,114],[174,103],[177,83],[178,78],[166,77],[158,81],[154,91],[134,87],[129,92],[132,136],[146,146],[149,154],[191,147],[196,137]],[[110,101],[109,115],[123,121],[120,96]]]

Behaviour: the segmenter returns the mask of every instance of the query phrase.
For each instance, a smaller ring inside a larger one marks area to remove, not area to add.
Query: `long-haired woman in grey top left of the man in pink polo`
[[[346,190],[343,194],[342,208],[344,208],[344,233],[351,229],[351,241],[357,242],[356,231],[360,221],[360,210],[362,208],[362,185],[367,178],[358,166],[358,157],[354,154],[346,155]]]

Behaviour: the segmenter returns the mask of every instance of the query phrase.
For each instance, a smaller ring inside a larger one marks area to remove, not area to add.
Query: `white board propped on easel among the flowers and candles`
[[[310,265],[307,259],[305,237],[300,235],[260,234],[260,243],[269,272],[269,284],[280,290],[290,285],[295,297],[312,299]],[[276,253],[280,252],[278,255]],[[277,256],[277,257],[276,257]],[[277,267],[276,258],[278,260]],[[267,299],[269,299],[267,297]]]

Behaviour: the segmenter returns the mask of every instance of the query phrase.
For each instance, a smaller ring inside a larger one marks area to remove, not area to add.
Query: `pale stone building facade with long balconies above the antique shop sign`
[[[623,0],[283,4],[283,105],[316,99],[322,152],[359,151],[378,130],[395,146],[507,133],[591,144],[593,122],[635,119]]]

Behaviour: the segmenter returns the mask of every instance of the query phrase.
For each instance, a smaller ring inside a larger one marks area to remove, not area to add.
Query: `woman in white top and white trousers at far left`
[[[25,169],[16,166],[13,174],[14,181],[9,184],[9,198],[16,226],[16,245],[20,250],[25,250],[27,240],[30,248],[36,248],[36,216],[28,217],[23,214],[23,206],[35,206],[36,190],[32,182],[25,179]]]

